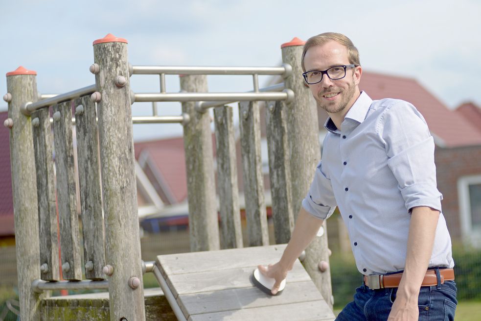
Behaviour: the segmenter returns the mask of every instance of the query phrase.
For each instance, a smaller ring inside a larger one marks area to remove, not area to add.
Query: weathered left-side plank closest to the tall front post
[[[85,277],[100,280],[105,279],[102,272],[105,266],[105,232],[95,103],[90,97],[81,97],[75,100],[74,105]]]

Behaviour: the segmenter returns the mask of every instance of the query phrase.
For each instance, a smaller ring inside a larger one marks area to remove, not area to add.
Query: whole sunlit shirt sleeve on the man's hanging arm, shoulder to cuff
[[[398,181],[408,212],[416,206],[441,211],[437,190],[434,139],[414,106],[402,102],[387,108],[379,126],[388,166]]]

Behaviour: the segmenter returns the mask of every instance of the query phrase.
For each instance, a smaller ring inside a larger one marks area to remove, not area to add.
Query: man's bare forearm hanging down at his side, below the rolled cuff
[[[430,207],[414,207],[409,225],[406,266],[399,284],[398,296],[415,299],[433,253],[439,211]]]

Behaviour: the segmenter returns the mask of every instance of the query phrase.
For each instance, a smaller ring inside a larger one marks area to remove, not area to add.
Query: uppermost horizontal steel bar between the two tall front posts
[[[286,74],[292,68],[281,67],[184,67],[133,66],[133,74]]]

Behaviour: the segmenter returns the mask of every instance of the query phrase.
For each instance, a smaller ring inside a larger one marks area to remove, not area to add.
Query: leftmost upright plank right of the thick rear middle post
[[[224,248],[242,247],[232,107],[214,108],[214,119],[221,240]]]

